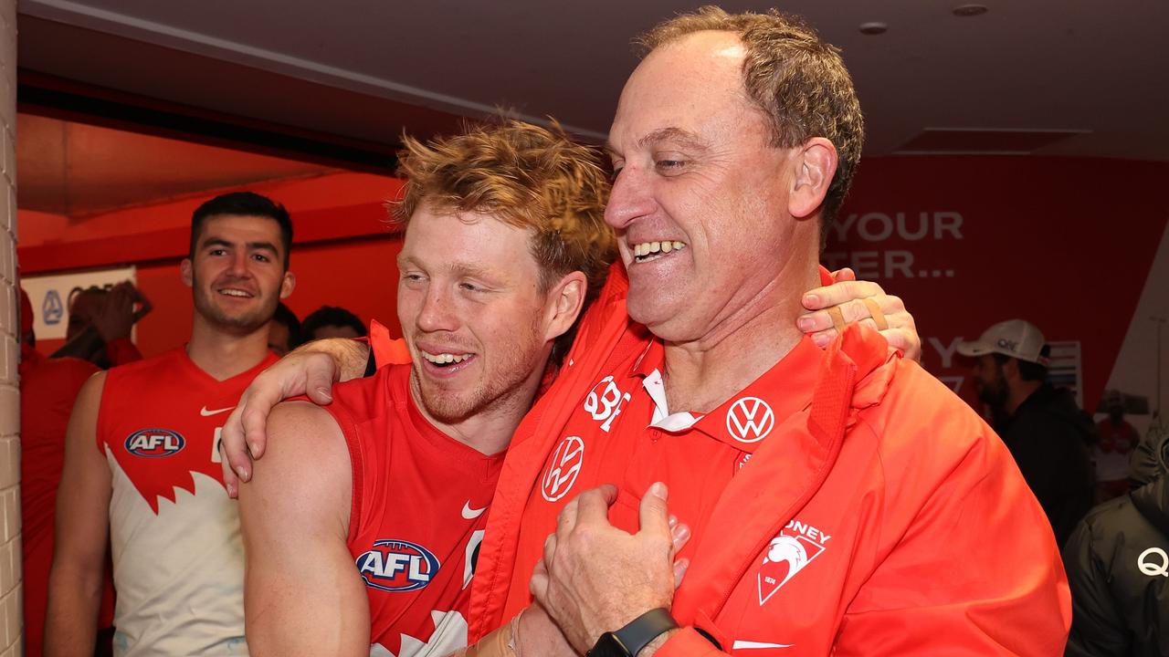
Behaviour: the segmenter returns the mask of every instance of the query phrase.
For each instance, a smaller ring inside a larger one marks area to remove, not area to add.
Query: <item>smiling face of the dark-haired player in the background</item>
[[[193,258],[182,261],[182,281],[194,292],[195,313],[235,334],[261,328],[276,304],[292,293],[284,270],[279,224],[265,216],[207,217]]]

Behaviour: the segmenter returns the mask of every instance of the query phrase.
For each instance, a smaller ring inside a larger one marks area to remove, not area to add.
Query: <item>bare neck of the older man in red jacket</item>
[[[801,263],[802,264],[802,263]],[[665,345],[670,410],[708,413],[774,367],[802,339],[795,319],[803,292],[818,285],[816,268],[783,271],[775,283],[690,343]]]

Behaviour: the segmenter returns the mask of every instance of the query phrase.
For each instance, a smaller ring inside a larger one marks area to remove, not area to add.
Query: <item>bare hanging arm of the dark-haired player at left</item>
[[[44,621],[44,653],[49,656],[94,652],[111,486],[110,466],[97,448],[97,412],[104,387],[105,372],[85,381],[65,430]]]

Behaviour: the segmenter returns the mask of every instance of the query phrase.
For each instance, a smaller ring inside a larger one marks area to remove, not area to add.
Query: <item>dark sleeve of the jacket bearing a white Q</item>
[[[1066,657],[1128,655],[1125,620],[1108,590],[1108,568],[1092,542],[1092,525],[1084,520],[1064,546],[1064,568],[1072,587],[1072,632]]]

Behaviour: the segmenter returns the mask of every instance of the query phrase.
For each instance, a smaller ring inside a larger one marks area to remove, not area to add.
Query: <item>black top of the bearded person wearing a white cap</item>
[[[1064,545],[1095,499],[1092,416],[1075,406],[1072,393],[1044,383],[996,429]]]

